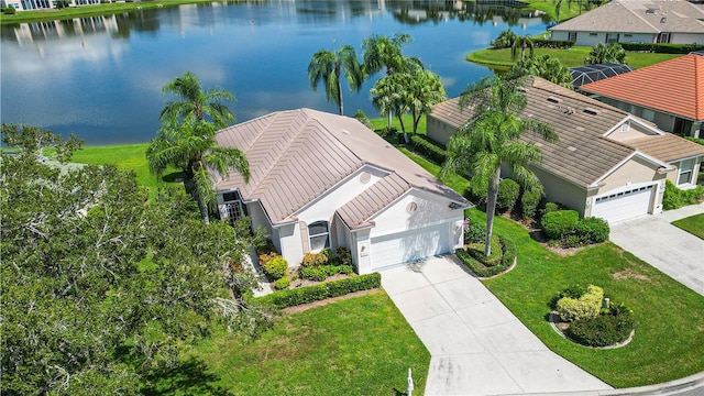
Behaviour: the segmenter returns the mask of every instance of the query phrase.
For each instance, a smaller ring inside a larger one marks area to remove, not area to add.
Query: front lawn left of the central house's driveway
[[[430,364],[430,353],[384,292],[286,315],[256,341],[220,333],[188,355],[207,367],[193,370],[196,378],[180,372],[156,378],[146,394],[190,394],[187,387],[198,386],[194,394],[398,395],[411,369],[422,395]]]

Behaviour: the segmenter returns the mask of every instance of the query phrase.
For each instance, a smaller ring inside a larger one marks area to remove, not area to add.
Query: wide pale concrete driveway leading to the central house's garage
[[[382,286],[430,351],[426,395],[610,389],[548,350],[455,260],[382,272]]]

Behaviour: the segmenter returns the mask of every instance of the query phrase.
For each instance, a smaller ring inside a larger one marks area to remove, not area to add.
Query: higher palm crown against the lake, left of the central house
[[[166,103],[160,120],[180,119],[187,121],[193,118],[202,121],[210,118],[217,128],[226,128],[234,122],[234,116],[221,101],[233,102],[234,96],[224,89],[212,88],[202,90],[200,80],[193,73],[186,72],[162,88],[164,94],[180,97],[182,101]]]

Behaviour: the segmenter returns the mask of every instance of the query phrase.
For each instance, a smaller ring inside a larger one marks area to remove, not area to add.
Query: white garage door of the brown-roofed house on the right
[[[648,213],[654,185],[626,191],[605,194],[595,199],[593,217],[606,219],[609,223]]]

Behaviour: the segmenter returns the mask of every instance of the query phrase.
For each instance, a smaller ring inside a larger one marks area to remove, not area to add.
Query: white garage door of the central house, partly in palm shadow
[[[449,245],[450,227],[447,223],[372,238],[372,270],[448,253]]]

